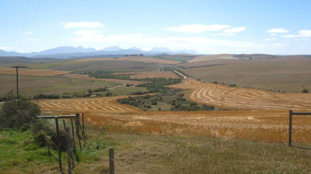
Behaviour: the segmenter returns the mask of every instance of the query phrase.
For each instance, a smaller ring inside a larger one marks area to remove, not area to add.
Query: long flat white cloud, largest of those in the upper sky
[[[202,33],[205,31],[218,31],[224,28],[229,28],[229,25],[181,25],[179,27],[161,28],[166,31],[180,32],[180,33]]]

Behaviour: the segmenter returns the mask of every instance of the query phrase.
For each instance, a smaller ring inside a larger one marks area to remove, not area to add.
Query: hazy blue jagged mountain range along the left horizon
[[[156,55],[156,54],[199,54],[199,53],[196,50],[186,50],[186,49],[170,50],[169,48],[165,47],[155,47],[149,51],[144,51],[135,46],[125,50],[123,50],[118,46],[109,46],[101,50],[96,50],[95,48],[84,48],[82,46],[78,47],[60,46],[57,48],[32,53],[18,53],[15,51],[7,52],[4,50],[0,50],[0,56],[23,56],[29,58],[58,58],[58,59],[66,59],[72,57],[100,56],[100,55],[113,56],[123,54]]]

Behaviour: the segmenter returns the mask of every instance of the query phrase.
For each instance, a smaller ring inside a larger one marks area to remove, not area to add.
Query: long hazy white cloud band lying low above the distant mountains
[[[254,48],[258,47],[252,41],[228,41],[228,40],[216,40],[207,37],[157,37],[151,35],[142,34],[127,34],[127,35],[110,35],[104,37],[103,35],[83,35],[78,38],[70,39],[77,42],[101,42],[105,44],[123,44],[123,45],[142,45],[142,49],[147,50],[148,46],[163,46],[172,47],[173,49],[185,48],[185,49],[197,49],[206,50],[209,47],[230,47],[237,48]],[[119,45],[119,46],[123,46]]]

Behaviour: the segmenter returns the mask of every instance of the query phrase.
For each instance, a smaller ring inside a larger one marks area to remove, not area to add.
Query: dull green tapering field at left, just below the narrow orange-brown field
[[[0,75],[0,96],[6,96],[8,93],[16,94],[16,76]],[[88,89],[112,88],[122,84],[97,81],[81,80],[62,76],[19,76],[18,89],[19,94],[33,96],[37,94],[62,94],[64,92],[84,92]]]

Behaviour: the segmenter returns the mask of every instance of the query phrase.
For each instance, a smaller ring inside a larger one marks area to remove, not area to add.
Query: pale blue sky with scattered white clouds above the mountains
[[[1,0],[0,50],[311,54],[310,0]]]

